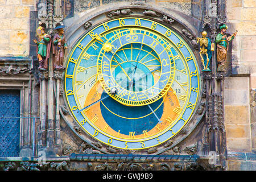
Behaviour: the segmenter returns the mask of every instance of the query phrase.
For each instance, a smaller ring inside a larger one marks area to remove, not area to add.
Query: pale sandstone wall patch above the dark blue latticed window
[[[28,56],[33,0],[0,1],[0,56]]]

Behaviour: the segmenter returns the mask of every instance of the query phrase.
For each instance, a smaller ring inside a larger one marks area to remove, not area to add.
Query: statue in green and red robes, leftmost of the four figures
[[[47,70],[51,49],[51,36],[46,34],[45,28],[42,25],[39,25],[36,30],[36,34],[38,36],[38,40],[34,39],[33,41],[36,43],[36,54],[39,62],[38,69]]]

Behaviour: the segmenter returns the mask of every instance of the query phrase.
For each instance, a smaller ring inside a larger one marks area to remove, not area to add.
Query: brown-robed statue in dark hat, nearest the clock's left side
[[[53,36],[53,67],[55,69],[64,69],[64,56],[65,56],[65,49],[68,48],[67,41],[64,35],[64,26],[57,26],[55,28],[57,31],[56,34]]]

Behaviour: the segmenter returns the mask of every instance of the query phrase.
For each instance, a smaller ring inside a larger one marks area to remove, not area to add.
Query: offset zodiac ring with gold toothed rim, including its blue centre
[[[175,61],[162,36],[137,28],[119,28],[104,42],[97,75],[105,92],[126,106],[144,106],[171,88]],[[114,91],[113,91],[114,90]]]

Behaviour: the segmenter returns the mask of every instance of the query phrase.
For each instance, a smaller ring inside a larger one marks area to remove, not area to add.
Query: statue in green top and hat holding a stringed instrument
[[[217,43],[217,62],[218,69],[217,71],[225,72],[224,65],[226,63],[226,54],[228,51],[229,42],[234,39],[237,35],[237,32],[234,32],[232,36],[226,36],[226,30],[228,26],[223,24],[220,26],[221,32],[217,34],[215,42]]]

